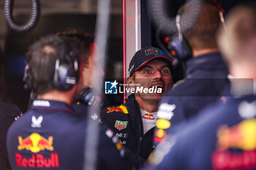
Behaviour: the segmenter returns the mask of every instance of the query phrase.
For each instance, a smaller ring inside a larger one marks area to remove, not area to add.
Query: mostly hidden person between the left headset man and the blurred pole
[[[56,35],[59,36],[67,36],[67,37],[75,37],[83,42],[83,58],[85,60],[85,68],[83,69],[83,89],[80,91],[80,94],[74,104],[72,104],[73,109],[81,115],[87,116],[86,112],[90,105],[99,104],[99,98],[101,94],[99,93],[100,89],[95,86],[92,87],[92,74],[94,70],[100,72],[101,76],[104,76],[105,72],[102,67],[97,63],[100,57],[94,55],[99,51],[99,47],[94,42],[94,34],[89,34],[83,31],[78,31],[76,29],[68,29],[67,31],[58,32]],[[92,94],[92,88],[97,89],[97,94]],[[102,98],[102,104],[104,105],[104,98]]]

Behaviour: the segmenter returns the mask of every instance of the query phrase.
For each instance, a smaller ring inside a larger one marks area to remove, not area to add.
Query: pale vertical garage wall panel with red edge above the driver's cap
[[[136,51],[151,45],[151,23],[146,11],[146,0],[123,0],[125,77],[129,61]],[[124,9],[125,8],[125,9]]]

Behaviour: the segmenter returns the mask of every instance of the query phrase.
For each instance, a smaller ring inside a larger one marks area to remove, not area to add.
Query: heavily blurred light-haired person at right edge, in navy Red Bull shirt
[[[227,88],[232,96],[159,144],[152,162],[162,162],[155,169],[256,169],[256,4],[230,12],[218,43],[233,77]]]

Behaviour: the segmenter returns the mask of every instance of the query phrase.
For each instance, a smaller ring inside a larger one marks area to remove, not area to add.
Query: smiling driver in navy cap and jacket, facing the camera
[[[153,150],[159,100],[173,86],[171,64],[171,59],[157,47],[138,50],[129,63],[127,77],[129,88],[134,88],[135,93],[128,96],[125,104],[107,107],[102,112],[103,123],[115,131],[127,148],[144,159]]]

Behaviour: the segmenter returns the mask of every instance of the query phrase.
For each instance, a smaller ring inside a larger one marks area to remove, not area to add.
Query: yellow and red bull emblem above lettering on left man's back
[[[33,133],[25,139],[18,136],[18,142],[18,150],[26,149],[34,153],[45,149],[53,151],[53,136],[49,136],[48,139],[45,139],[43,136]]]

